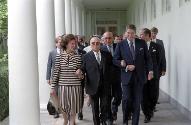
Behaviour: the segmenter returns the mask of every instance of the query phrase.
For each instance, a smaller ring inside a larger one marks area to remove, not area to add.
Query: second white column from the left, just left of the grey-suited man
[[[49,100],[49,85],[46,82],[48,54],[55,47],[54,1],[37,0],[37,41],[39,88],[41,108]]]

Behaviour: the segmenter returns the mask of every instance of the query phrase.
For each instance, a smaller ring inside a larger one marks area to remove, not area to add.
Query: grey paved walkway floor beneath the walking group
[[[144,123],[144,116],[141,113],[140,125],[190,125],[191,120],[180,113],[174,106],[169,103],[169,99],[165,95],[160,95],[160,104],[157,105],[158,111],[154,114],[154,118],[150,123]],[[63,119],[54,119],[53,116],[48,115],[46,110],[41,110],[41,125],[62,125]],[[118,120],[116,125],[123,124],[123,115],[121,106],[119,109]],[[91,108],[85,105],[84,108],[84,120],[76,120],[78,125],[92,125],[92,113]]]

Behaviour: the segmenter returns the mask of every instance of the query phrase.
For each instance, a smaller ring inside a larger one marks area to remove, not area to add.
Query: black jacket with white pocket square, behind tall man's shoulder
[[[160,77],[160,71],[159,67],[161,64],[161,46],[158,45],[155,42],[151,42],[149,46],[149,53],[151,55],[152,63],[153,63],[153,72],[154,72],[154,78],[159,79]]]

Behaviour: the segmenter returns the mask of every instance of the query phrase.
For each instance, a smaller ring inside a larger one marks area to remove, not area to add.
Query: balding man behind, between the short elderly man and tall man
[[[112,32],[105,32],[103,34],[104,45],[101,46],[103,51],[109,52],[112,57],[115,52],[116,43],[113,43],[113,33]],[[117,112],[118,106],[121,104],[122,99],[122,90],[121,90],[121,70],[116,65],[112,65],[111,67],[111,98],[109,103],[111,103],[111,111],[109,113],[109,119],[111,122],[117,120]],[[112,102],[111,102],[112,101]]]

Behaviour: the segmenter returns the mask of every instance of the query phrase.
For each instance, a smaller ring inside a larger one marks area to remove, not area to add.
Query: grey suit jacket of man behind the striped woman
[[[46,80],[50,80],[52,77],[52,71],[55,66],[55,59],[57,55],[57,49],[49,52],[47,70],[46,70]]]

